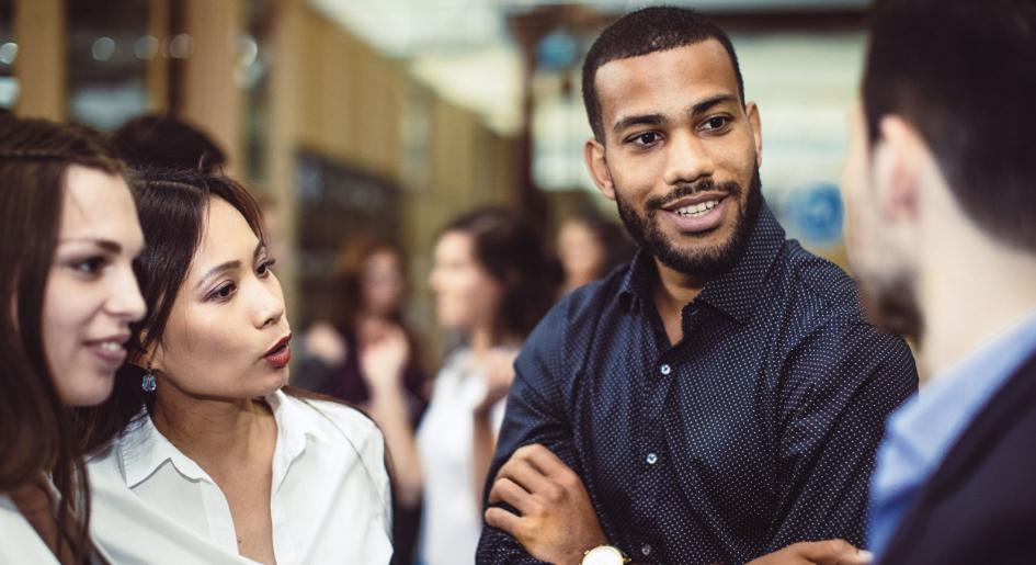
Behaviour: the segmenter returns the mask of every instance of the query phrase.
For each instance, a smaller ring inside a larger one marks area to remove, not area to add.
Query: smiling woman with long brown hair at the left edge
[[[103,563],[71,407],[145,314],[123,166],[86,128],[0,117],[0,563]]]

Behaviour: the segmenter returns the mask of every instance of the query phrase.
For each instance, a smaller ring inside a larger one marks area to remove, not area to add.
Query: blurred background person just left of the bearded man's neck
[[[565,271],[562,293],[603,279],[616,267],[628,263],[637,252],[637,246],[622,226],[589,214],[561,224],[557,248]]]

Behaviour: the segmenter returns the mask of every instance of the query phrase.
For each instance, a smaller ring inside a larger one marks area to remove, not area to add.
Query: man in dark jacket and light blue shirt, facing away
[[[881,442],[883,564],[1036,563],[1034,101],[1036,2],[879,3],[846,237],[873,319],[931,375]]]

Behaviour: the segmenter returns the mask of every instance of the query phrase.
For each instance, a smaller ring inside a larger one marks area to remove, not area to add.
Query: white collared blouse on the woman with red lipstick
[[[278,565],[387,564],[392,555],[385,441],[344,405],[282,392],[270,512]],[[91,529],[114,563],[247,564],[216,483],[148,417],[89,460]]]

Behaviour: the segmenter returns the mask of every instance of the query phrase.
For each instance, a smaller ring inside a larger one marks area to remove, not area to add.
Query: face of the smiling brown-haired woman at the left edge
[[[122,178],[72,165],[66,187],[44,295],[43,337],[61,400],[90,406],[112,394],[119,364],[100,358],[92,346],[124,343],[129,324],[146,313],[133,274],[144,235]]]

